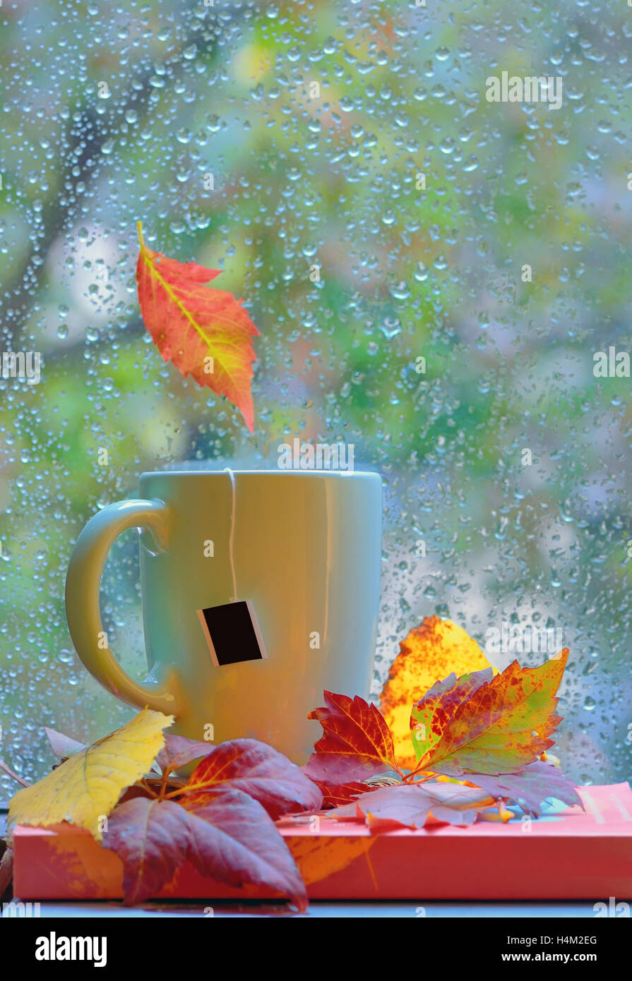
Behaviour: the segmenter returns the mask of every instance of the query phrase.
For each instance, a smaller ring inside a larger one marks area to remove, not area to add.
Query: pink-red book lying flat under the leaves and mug
[[[278,822],[313,900],[632,899],[632,791],[627,783],[579,788],[586,811],[553,804],[528,821],[435,825],[371,835],[320,815]],[[17,827],[19,900],[123,896],[118,855],[69,824]],[[224,886],[187,862],[156,899],[277,899],[272,890]]]

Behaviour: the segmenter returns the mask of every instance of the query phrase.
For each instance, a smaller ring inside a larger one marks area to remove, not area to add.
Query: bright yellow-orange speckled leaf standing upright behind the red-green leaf
[[[395,759],[413,768],[416,757],[410,742],[410,710],[415,701],[452,671],[456,677],[492,667],[472,638],[451,620],[426,617],[399,643],[399,653],[382,691],[380,708],[393,733]]]

